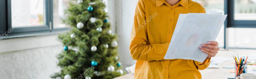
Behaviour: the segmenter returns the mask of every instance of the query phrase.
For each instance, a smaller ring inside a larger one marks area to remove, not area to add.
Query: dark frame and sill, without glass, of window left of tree
[[[29,26],[29,27],[18,27],[14,28],[11,32],[12,25],[12,14],[11,14],[11,0],[0,1],[0,40],[25,37],[25,36],[36,36],[44,34],[55,34],[70,30],[69,28],[55,28],[53,26],[53,1],[43,0],[45,10],[45,25],[40,26]],[[2,15],[3,14],[3,15]],[[9,30],[9,31],[10,31]],[[5,32],[8,32],[5,34]],[[8,36],[3,36],[8,35]]]

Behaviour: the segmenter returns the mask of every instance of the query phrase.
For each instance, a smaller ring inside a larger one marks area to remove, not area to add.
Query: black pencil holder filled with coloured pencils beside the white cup
[[[240,76],[241,73],[247,73],[247,63],[245,64],[235,63],[235,77]]]

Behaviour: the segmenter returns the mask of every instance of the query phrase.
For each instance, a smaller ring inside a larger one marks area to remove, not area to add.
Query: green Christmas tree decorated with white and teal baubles
[[[60,72],[52,78],[112,79],[123,74],[118,62],[117,35],[110,30],[102,0],[75,0],[65,11],[71,31],[60,34],[64,45],[57,56]]]

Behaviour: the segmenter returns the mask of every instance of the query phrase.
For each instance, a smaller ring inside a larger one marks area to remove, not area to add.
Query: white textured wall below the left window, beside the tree
[[[0,79],[50,79],[58,72],[56,55],[62,43],[57,34],[0,41]]]

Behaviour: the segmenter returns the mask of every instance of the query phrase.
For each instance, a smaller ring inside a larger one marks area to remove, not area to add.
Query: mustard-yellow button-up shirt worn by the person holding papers
[[[131,33],[130,53],[137,60],[135,79],[201,79],[199,70],[210,64],[185,59],[164,59],[179,14],[205,13],[191,0],[169,5],[165,0],[139,0]]]

